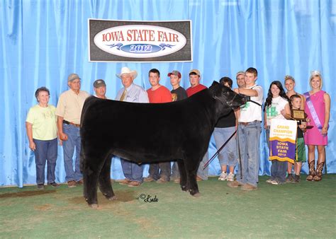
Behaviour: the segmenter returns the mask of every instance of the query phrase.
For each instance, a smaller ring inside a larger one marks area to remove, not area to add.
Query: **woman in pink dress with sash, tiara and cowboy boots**
[[[323,165],[325,164],[325,146],[327,145],[327,130],[330,117],[330,96],[322,91],[322,76],[320,71],[312,71],[310,75],[311,91],[304,93],[306,98],[305,111],[313,126],[304,135],[308,145],[308,181],[322,179]],[[318,164],[315,170],[315,148],[318,148]]]

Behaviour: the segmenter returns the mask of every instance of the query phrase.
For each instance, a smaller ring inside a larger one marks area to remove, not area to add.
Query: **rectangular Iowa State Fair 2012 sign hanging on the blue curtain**
[[[192,62],[191,21],[89,19],[89,62]]]

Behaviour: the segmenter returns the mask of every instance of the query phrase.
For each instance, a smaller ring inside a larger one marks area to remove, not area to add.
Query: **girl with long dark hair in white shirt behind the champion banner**
[[[264,105],[264,128],[266,129],[267,144],[269,146],[269,128],[271,119],[286,119],[284,115],[291,115],[289,98],[280,81],[273,81],[269,86],[266,103]],[[266,182],[272,185],[283,184],[286,180],[286,161],[273,160],[271,162],[271,178]]]

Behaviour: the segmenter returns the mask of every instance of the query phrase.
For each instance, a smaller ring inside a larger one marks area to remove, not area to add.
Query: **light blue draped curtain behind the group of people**
[[[92,63],[88,62],[87,19],[130,21],[191,20],[194,62],[186,63]],[[28,148],[25,121],[36,104],[35,89],[50,89],[50,104],[56,105],[67,90],[67,75],[82,77],[82,89],[93,93],[92,83],[103,78],[107,95],[115,98],[121,88],[116,73],[128,66],[138,71],[135,83],[150,88],[147,72],[161,71],[168,88],[167,73],[182,73],[189,87],[190,69],[200,69],[201,83],[254,66],[257,83],[266,95],[271,81],[296,78],[296,91],[310,89],[311,70],[323,74],[323,89],[333,99],[336,92],[336,3],[335,1],[250,0],[3,0],[0,1],[0,185],[35,183],[35,159]],[[331,105],[327,172],[336,173],[335,104]],[[65,181],[62,147],[57,158],[57,182]],[[210,156],[215,153],[213,139]],[[260,175],[269,174],[264,132],[260,142]],[[220,171],[218,161],[211,175]],[[303,171],[307,171],[304,165]],[[145,175],[147,170],[145,169]],[[118,158],[113,159],[112,177],[123,177]]]

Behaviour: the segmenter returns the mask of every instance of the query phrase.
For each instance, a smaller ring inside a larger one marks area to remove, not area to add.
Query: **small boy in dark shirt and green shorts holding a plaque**
[[[291,105],[293,110],[300,110],[302,99],[300,95],[291,95]],[[306,117],[306,114],[305,114]],[[305,141],[303,140],[303,132],[306,132],[306,122],[298,122],[298,131],[296,136],[296,159],[294,163],[294,172],[293,180],[287,181],[292,183],[300,182],[300,172],[302,163],[306,162],[306,147]]]

